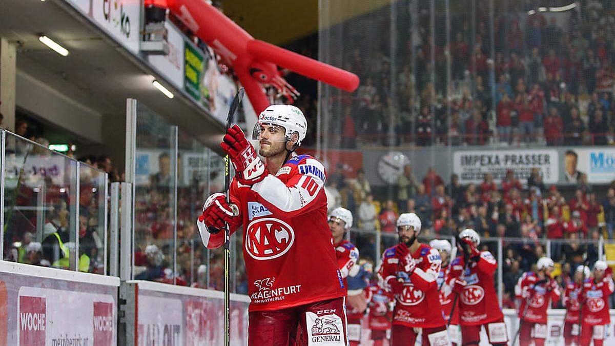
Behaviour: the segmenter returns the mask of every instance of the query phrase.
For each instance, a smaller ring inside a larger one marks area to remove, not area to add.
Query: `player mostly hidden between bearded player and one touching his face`
[[[440,267],[440,273],[438,273],[438,291],[440,291],[440,304],[442,304],[442,312],[444,318],[448,324],[448,336],[451,339],[453,345],[461,346],[461,331],[459,331],[459,306],[456,306],[453,310],[453,303],[456,303],[453,292],[455,277],[451,275],[451,243],[448,240],[432,240],[429,242],[429,246],[433,247],[440,253],[442,259],[442,266]],[[451,316],[453,312],[453,316]],[[448,319],[450,318],[450,323]]]

